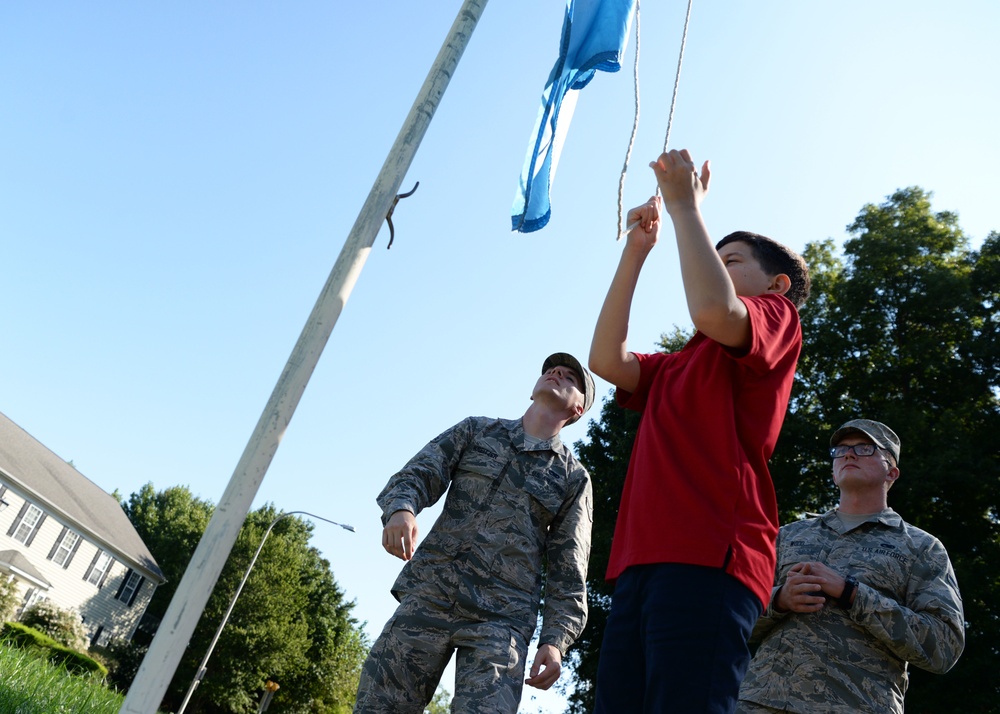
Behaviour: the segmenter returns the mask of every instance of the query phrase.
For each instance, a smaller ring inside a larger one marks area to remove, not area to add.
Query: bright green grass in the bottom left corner
[[[69,674],[30,650],[0,644],[3,714],[118,714],[123,700],[96,677]]]

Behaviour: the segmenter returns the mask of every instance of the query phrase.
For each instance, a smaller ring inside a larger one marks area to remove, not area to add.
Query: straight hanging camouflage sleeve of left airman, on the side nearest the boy
[[[539,644],[563,654],[587,624],[587,565],[594,523],[590,474],[577,465],[583,478],[553,521],[546,556],[545,606]]]

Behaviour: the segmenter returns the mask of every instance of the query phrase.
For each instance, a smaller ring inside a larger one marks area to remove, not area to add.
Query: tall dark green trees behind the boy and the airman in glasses
[[[866,205],[832,240],[804,251],[813,291],[800,313],[803,350],[771,474],[783,522],[837,502],[832,430],[866,417],[900,436],[901,477],[889,504],[936,535],[951,556],[968,622],[965,653],[946,675],[911,668],[912,712],[1000,712],[1000,234],[976,251],[956,215],[911,187]],[[678,335],[674,335],[678,338]],[[665,346],[672,349],[670,339]],[[594,478],[591,624],[572,662],[570,711],[590,711],[609,602],[600,582],[636,419],[605,403],[577,450]]]

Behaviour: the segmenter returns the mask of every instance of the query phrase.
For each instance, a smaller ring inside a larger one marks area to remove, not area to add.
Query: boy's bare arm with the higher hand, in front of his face
[[[691,154],[682,149],[661,154],[650,166],[674,224],[684,294],[695,328],[727,347],[748,346],[746,305],[737,297],[701,217],[701,202],[711,179],[709,163],[704,163],[699,175]]]

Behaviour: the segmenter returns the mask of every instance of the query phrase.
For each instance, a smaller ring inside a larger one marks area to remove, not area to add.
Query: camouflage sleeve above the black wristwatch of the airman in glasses
[[[915,558],[905,604],[862,583],[848,612],[897,657],[935,674],[951,669],[965,649],[962,596],[936,538]]]

